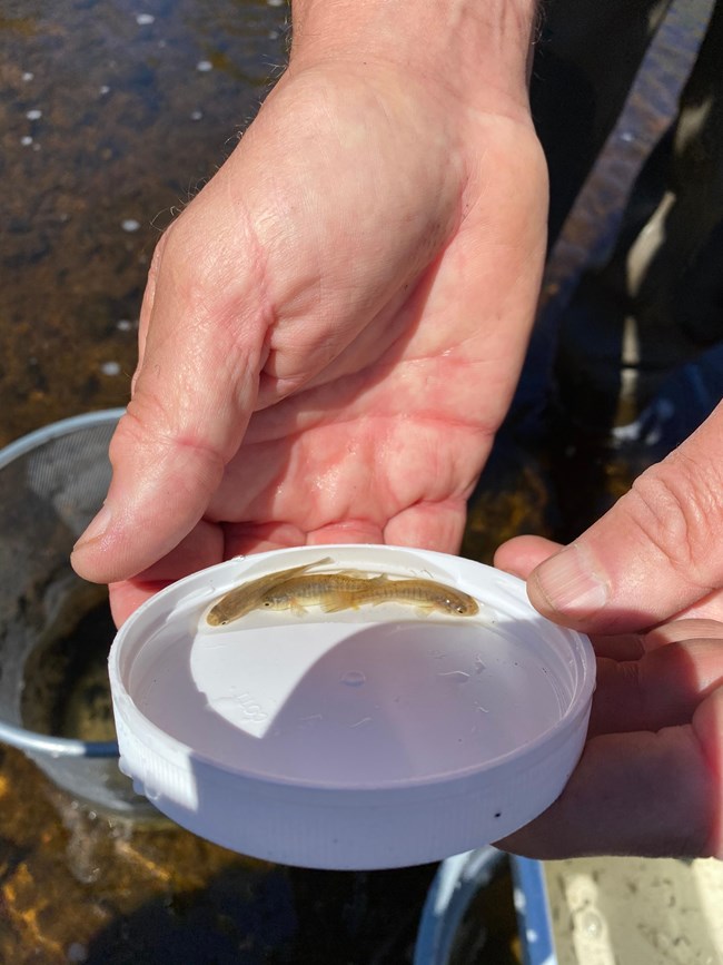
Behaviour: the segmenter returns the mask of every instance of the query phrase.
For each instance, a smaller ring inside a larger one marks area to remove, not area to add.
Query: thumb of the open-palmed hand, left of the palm
[[[239,226],[222,217],[212,186],[155,259],[141,363],[110,445],[112,481],[72,554],[76,571],[96,582],[138,574],[196,526],[256,403],[264,313],[251,273],[239,268]]]

